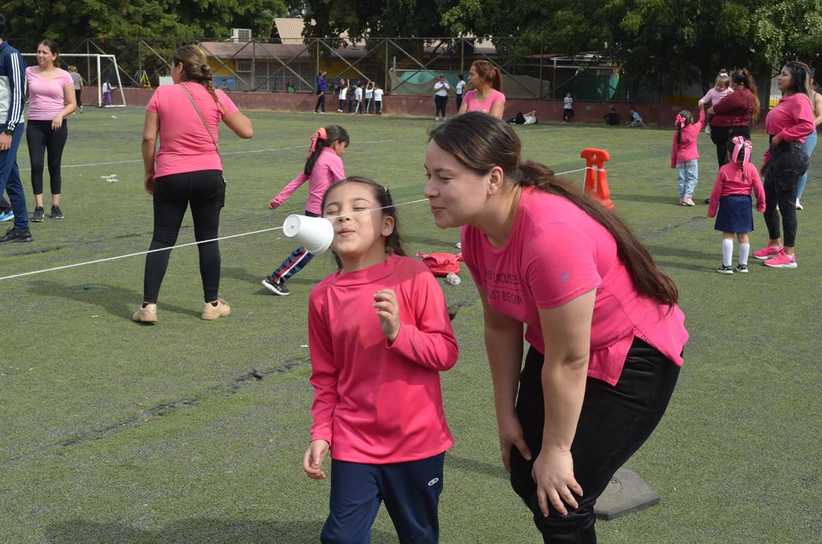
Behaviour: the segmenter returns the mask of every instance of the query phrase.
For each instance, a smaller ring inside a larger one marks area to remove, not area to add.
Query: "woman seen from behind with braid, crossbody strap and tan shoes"
[[[205,52],[196,45],[178,48],[172,56],[174,85],[161,85],[145,107],[143,164],[145,191],[153,196],[152,251],[145,256],[143,303],[132,319],[157,322],[157,297],[177,242],[183,215],[192,208],[197,242],[219,236],[219,211],[225,201],[223,164],[217,141],[219,122],[241,138],[251,138],[252,122],[222,90],[215,90]],[[193,104],[193,107],[192,107]],[[159,150],[157,138],[159,136]],[[219,298],[219,245],[205,242],[200,252],[200,275],[205,303],[201,318],[215,320],[231,313]]]

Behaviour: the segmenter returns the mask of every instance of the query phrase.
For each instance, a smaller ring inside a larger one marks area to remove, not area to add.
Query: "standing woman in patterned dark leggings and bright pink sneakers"
[[[783,96],[765,118],[770,149],[765,151],[762,165],[769,240],[767,246],[754,251],[754,256],[771,268],[797,268],[797,185],[810,162],[802,144],[816,130],[808,66],[804,62],[786,62],[777,85]],[[779,232],[779,214],[784,241]]]

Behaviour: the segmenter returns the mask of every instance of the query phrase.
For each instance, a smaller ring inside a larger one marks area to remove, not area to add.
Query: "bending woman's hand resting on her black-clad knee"
[[[566,505],[579,508],[573,494],[581,497],[582,487],[574,477],[574,459],[570,451],[543,449],[533,462],[531,477],[537,483],[537,499],[543,516],[548,516],[548,501],[562,515],[568,514]]]

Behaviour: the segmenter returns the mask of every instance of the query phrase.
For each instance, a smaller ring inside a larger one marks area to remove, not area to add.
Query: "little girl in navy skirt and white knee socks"
[[[708,203],[708,217],[716,216],[715,230],[723,233],[722,266],[719,274],[733,274],[733,237],[739,240],[739,263],[737,272],[748,273],[750,239],[748,233],[754,230],[754,216],[751,209],[750,193],[756,196],[756,210],[765,210],[765,191],[760,173],[750,164],[750,140],[736,136],[728,142],[727,154],[730,162],[719,168],[717,181]],[[717,208],[719,209],[717,212]]]

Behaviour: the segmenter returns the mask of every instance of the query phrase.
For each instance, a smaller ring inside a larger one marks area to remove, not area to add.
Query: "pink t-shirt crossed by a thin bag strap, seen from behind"
[[[145,106],[159,116],[159,151],[155,159],[155,177],[197,170],[222,170],[223,163],[215,149],[211,136],[205,131],[200,116],[188,99],[191,92],[197,108],[219,144],[219,122],[235,113],[237,106],[222,90],[216,90],[220,108],[208,90],[199,83],[160,85]]]

